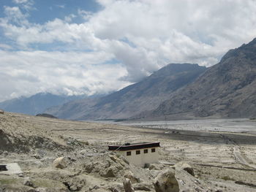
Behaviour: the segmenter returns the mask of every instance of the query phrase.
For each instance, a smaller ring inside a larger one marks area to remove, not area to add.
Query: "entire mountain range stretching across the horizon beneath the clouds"
[[[229,50],[214,66],[169,64],[107,96],[39,93],[1,102],[0,108],[72,120],[255,118],[256,39]]]

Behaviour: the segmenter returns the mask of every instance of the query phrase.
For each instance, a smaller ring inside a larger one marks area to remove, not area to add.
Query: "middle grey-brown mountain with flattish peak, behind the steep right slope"
[[[169,64],[144,80],[108,96],[71,101],[45,112],[75,120],[129,118],[155,109],[170,97],[170,93],[193,82],[205,71],[205,66],[197,64]]]

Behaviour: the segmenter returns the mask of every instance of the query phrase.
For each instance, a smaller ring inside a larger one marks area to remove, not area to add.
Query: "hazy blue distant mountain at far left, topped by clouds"
[[[20,112],[28,115],[37,115],[49,107],[64,104],[68,101],[80,99],[82,96],[57,96],[52,93],[37,93],[30,97],[10,99],[0,103],[0,108],[8,112]]]

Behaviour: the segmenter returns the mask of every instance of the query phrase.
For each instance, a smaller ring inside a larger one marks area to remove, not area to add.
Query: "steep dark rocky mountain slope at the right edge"
[[[229,50],[219,62],[156,110],[137,118],[255,118],[256,39]]]

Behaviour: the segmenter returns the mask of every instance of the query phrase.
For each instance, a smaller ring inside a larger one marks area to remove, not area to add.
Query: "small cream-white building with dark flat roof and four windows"
[[[110,145],[108,150],[123,155],[130,164],[144,167],[145,164],[155,164],[159,160],[159,142],[126,143],[125,145]]]

